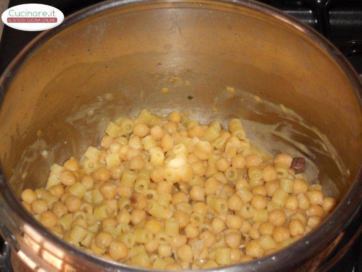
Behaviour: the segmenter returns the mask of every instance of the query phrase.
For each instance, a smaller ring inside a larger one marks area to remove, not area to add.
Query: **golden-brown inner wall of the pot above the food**
[[[99,145],[109,120],[143,108],[188,110],[205,123],[242,118],[256,144],[308,157],[319,167],[313,182],[345,193],[360,164],[362,118],[340,67],[268,15],[198,3],[102,12],[26,59],[0,111],[2,166],[16,194],[44,185],[52,163]]]

